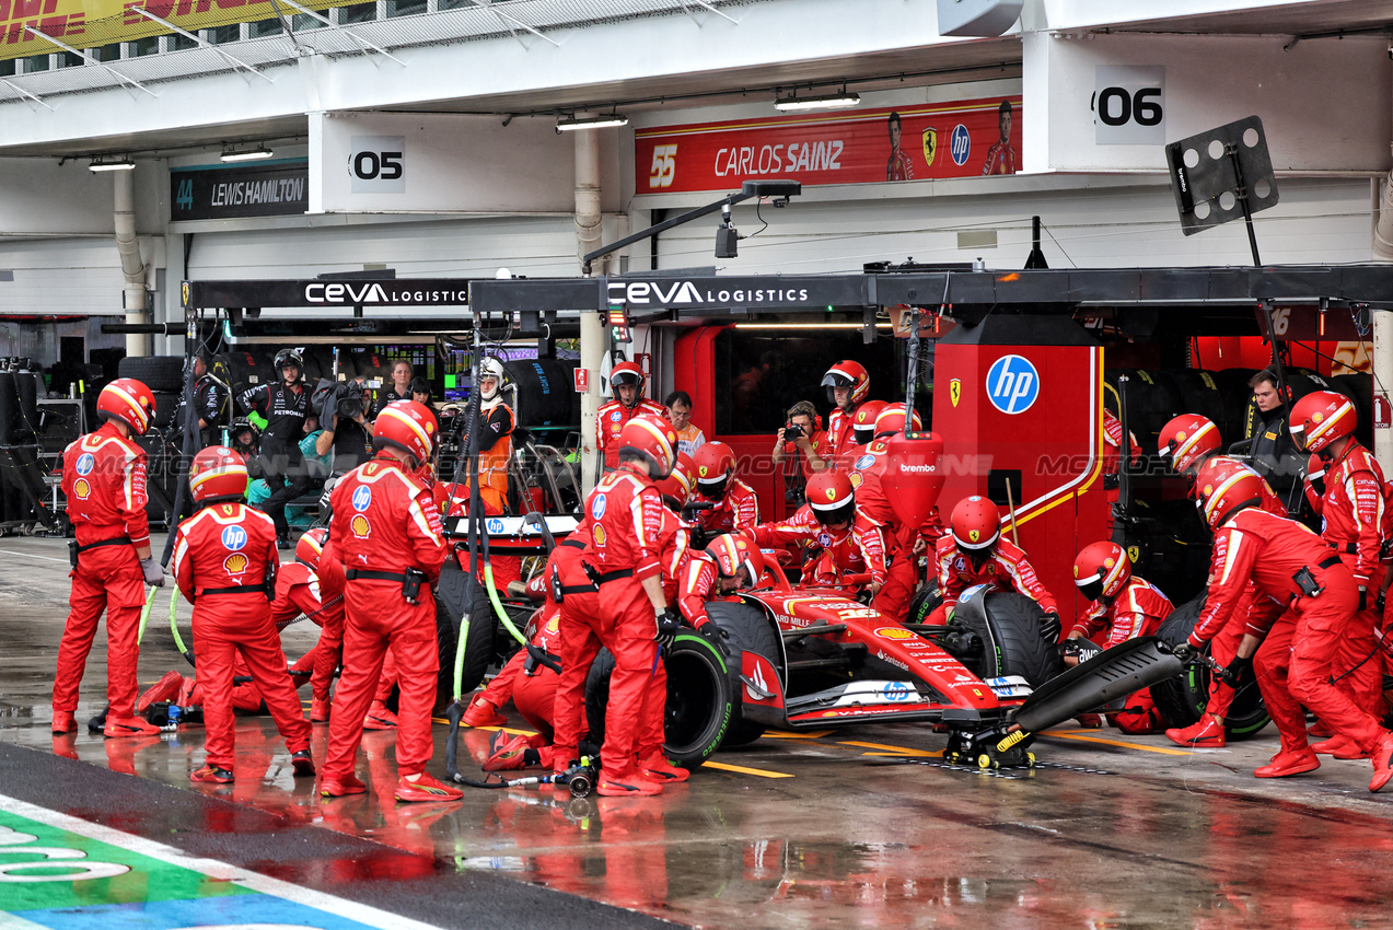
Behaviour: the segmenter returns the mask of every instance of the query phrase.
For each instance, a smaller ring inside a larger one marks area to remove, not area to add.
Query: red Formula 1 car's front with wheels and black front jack
[[[708,603],[727,638],[677,638],[667,654],[664,749],[696,767],[768,727],[924,721],[947,728],[949,762],[1032,766],[1036,731],[1181,671],[1169,649],[1145,638],[1060,674],[1056,647],[1020,601],[1034,608],[1017,594],[971,589],[949,626],[910,629],[846,589],[793,586],[776,572],[773,585],[740,600]],[[596,742],[612,670],[602,652],[586,682]]]

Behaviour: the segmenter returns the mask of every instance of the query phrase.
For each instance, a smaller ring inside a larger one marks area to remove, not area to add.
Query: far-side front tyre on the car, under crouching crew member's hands
[[[1039,606],[1014,592],[968,589],[953,610],[953,626],[964,626],[982,640],[982,660],[971,671],[978,678],[1020,675],[1039,688],[1064,671],[1064,660],[1055,643],[1041,635],[1045,613]]]

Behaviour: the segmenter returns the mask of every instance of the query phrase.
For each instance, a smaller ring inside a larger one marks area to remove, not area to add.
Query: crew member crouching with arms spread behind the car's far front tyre
[[[985,497],[964,497],[949,517],[951,532],[933,544],[933,567],[943,603],[929,614],[931,624],[947,622],[964,590],[990,585],[996,590],[1025,594],[1045,611],[1041,633],[1050,643],[1059,639],[1059,607],[1055,596],[1035,575],[1025,553],[1002,537],[1002,512]]]

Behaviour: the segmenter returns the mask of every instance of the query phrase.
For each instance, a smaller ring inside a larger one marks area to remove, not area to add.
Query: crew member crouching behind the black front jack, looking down
[[[1068,639],[1091,639],[1106,629],[1103,649],[1137,636],[1155,636],[1160,622],[1174,610],[1159,588],[1131,574],[1131,560],[1117,543],[1085,546],[1074,560],[1074,583],[1089,603],[1074,621]],[[1074,656],[1064,656],[1064,661],[1078,664]],[[1149,688],[1130,695],[1124,710],[1107,714],[1107,720],[1126,734],[1153,734],[1166,728]]]

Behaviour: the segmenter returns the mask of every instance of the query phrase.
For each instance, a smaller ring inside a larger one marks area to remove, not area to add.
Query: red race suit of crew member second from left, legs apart
[[[178,525],[174,581],[194,604],[194,660],[203,692],[208,764],[233,771],[233,665],[241,654],[290,752],[309,749],[309,723],[286,674],[265,578],[276,523],[245,504],[210,504]]]

